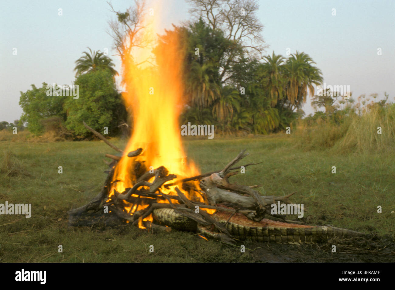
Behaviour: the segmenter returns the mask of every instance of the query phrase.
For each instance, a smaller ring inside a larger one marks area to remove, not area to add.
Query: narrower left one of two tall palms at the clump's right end
[[[284,58],[281,55],[276,55],[273,51],[272,56],[264,56],[263,59],[266,60],[264,67],[269,73],[267,88],[271,97],[271,105],[274,107],[277,100],[282,98],[281,65],[284,63]]]

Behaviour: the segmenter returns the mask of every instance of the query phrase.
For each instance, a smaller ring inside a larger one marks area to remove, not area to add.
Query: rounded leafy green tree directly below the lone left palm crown
[[[118,132],[119,110],[122,106],[113,74],[109,70],[97,70],[80,75],[75,80],[79,86],[79,98],[67,99],[66,128],[80,136],[91,135],[84,125],[85,121],[96,131],[103,132],[108,127],[109,135]]]

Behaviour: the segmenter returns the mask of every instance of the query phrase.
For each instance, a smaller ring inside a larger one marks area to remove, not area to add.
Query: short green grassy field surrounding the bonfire
[[[126,144],[126,140],[113,142],[121,148]],[[223,168],[247,148],[250,155],[241,163],[263,163],[233,176],[234,182],[262,184],[259,190],[264,195],[297,191],[292,201],[305,205],[302,221],[389,236],[393,242],[395,153],[305,152],[294,144],[287,135],[185,140],[188,158],[196,161],[201,172]],[[314,256],[313,249],[322,252],[322,259],[331,258],[330,247],[245,242],[249,249],[262,248],[241,253],[237,247],[205,241],[190,232],[152,234],[128,224],[72,228],[66,212],[100,191],[107,169],[102,159],[105,153],[113,153],[111,148],[98,141],[2,141],[0,152],[0,203],[32,204],[30,218],[0,215],[0,262],[249,262],[271,261],[276,251],[301,253],[282,262],[303,262],[309,261],[303,252]],[[63,167],[62,174],[58,166]],[[333,166],[336,174],[331,173]],[[382,213],[377,213],[378,206]],[[58,253],[58,245],[63,253]],[[149,252],[150,245],[154,253]]]

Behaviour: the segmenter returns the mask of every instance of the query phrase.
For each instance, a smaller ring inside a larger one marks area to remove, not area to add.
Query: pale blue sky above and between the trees
[[[163,27],[190,18],[183,0],[162,2]],[[124,11],[134,2],[112,3]],[[19,91],[25,92],[31,84],[71,84],[74,62],[87,47],[96,51],[107,47],[114,54],[112,39],[105,32],[113,15],[105,1],[14,0],[2,1],[1,6],[0,121],[19,119]],[[258,18],[265,25],[267,54],[274,50],[286,56],[287,48],[291,53],[304,51],[328,85],[349,85],[353,97],[378,93],[382,98],[387,91],[394,101],[395,1],[260,1]],[[112,58],[119,71],[120,61]],[[303,109],[313,112],[309,104]]]

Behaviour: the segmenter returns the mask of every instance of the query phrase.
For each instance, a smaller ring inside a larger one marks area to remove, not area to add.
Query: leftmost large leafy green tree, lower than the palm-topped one
[[[27,129],[34,134],[44,132],[44,127],[41,124],[43,119],[58,116],[61,120],[66,120],[63,105],[66,98],[70,97],[47,95],[49,90],[47,87],[48,85],[45,82],[43,82],[41,88],[37,88],[32,84],[32,90],[21,92],[21,97],[19,98],[19,105],[23,109],[20,122],[27,122]]]

